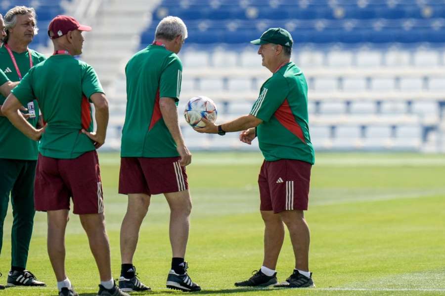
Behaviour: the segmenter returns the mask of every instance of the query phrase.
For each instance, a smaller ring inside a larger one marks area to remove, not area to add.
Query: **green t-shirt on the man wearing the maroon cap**
[[[39,152],[52,158],[73,159],[94,150],[82,128],[92,131],[89,98],[103,93],[94,69],[70,55],[53,55],[31,69],[12,93],[23,105],[38,98],[47,124]]]

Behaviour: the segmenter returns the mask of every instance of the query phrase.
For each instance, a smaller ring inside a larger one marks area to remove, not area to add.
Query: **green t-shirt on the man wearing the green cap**
[[[250,114],[263,120],[258,142],[267,161],[315,161],[309,135],[308,85],[294,63],[285,64],[263,84]]]

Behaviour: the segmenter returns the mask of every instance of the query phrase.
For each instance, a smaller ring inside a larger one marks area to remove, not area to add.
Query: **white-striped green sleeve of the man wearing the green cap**
[[[250,114],[263,121],[269,121],[273,113],[283,104],[288,93],[289,86],[286,79],[283,76],[272,77],[263,85]]]

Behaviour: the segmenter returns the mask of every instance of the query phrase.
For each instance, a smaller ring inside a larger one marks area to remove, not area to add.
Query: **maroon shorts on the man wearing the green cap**
[[[265,160],[258,177],[260,210],[274,213],[307,210],[311,167],[300,160]]]

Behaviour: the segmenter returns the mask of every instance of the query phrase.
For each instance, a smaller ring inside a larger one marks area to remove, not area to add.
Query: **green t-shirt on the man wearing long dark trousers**
[[[30,49],[33,65],[37,65],[45,60],[45,56],[37,51]],[[28,73],[30,69],[29,53],[12,52],[22,77]],[[12,63],[11,57],[4,46],[0,48],[0,69],[10,81],[19,81],[19,76]],[[5,81],[6,82],[6,81]],[[4,82],[3,82],[4,83]],[[2,84],[3,84],[2,83]],[[6,98],[0,94],[0,105]],[[35,118],[29,118],[28,122],[36,127],[39,121],[39,106],[37,101],[33,101]],[[28,104],[24,105],[28,108]],[[31,107],[31,106],[30,106]],[[0,116],[0,158],[21,159],[21,160],[37,160],[37,142],[31,140],[18,129],[16,129],[8,118]]]

